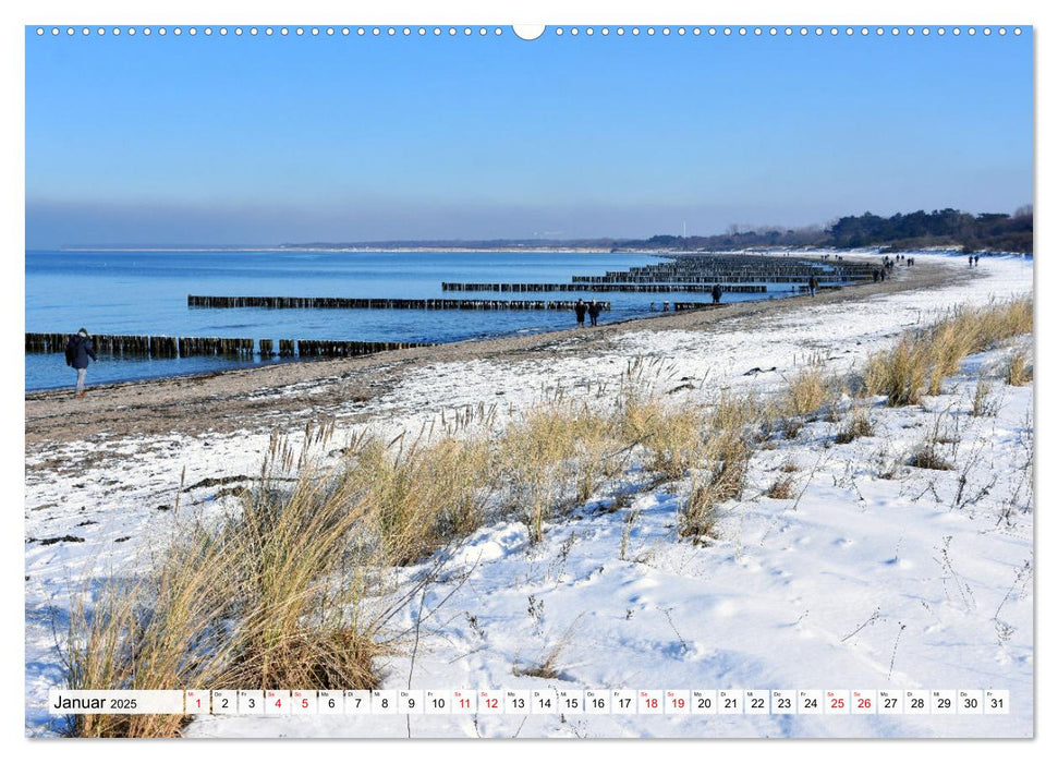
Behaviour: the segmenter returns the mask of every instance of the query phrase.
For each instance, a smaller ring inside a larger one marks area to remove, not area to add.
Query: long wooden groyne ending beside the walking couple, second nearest
[[[573,300],[390,300],[344,296],[204,296],[187,294],[189,307],[268,310],[572,310]],[[599,301],[603,310],[610,303]]]

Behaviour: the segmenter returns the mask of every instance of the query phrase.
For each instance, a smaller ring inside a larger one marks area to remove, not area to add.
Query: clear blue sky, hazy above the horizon
[[[26,245],[641,237],[1032,201],[1029,27],[504,32],[29,28]]]

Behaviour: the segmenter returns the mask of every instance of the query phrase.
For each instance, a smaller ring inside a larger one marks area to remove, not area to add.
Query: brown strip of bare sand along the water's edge
[[[74,398],[70,390],[26,393],[26,451],[39,452],[50,444],[84,439],[296,427],[302,426],[308,417],[327,416],[351,401],[370,400],[390,389],[403,375],[413,374],[429,364],[474,359],[547,358],[557,353],[591,356],[601,352],[617,335],[629,331],[709,330],[718,320],[732,317],[765,319],[798,311],[810,301],[819,305],[864,300],[885,293],[934,289],[970,275],[969,271],[941,263],[924,262],[913,268],[895,268],[895,277],[881,283],[825,290],[814,298],[733,303],[720,310],[654,313],[643,318],[594,328],[571,328],[398,350],[365,358],[304,361],[98,387],[90,386],[89,368],[89,389],[85,398]],[[604,320],[605,317],[604,314]],[[570,323],[573,323],[572,313]]]

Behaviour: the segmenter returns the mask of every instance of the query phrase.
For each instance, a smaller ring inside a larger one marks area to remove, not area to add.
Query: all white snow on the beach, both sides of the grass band
[[[53,732],[45,702],[64,681],[56,642],[71,594],[92,578],[144,569],[178,526],[174,516],[238,505],[223,487],[259,471],[277,425],[295,436],[326,415],[336,441],[364,431],[386,438],[440,431],[454,419],[502,429],[559,392],[589,399],[618,384],[634,359],[655,363],[659,391],[673,403],[704,402],[721,389],[766,396],[810,358],[851,372],[949,307],[1033,288],[1031,259],[984,257],[968,274],[963,257],[917,257],[958,277],[781,310],[720,311],[702,326],[633,322],[526,353],[421,354],[369,378],[336,371],[337,383],[258,385],[245,396],[256,415],[243,410],[216,427],[169,431],[159,409],[137,435],[108,435],[100,416],[90,436],[75,427],[58,436],[38,429],[35,415],[46,422],[66,401],[38,396],[39,404],[27,403],[27,734]],[[901,280],[915,277],[908,270]],[[1030,338],[1021,343],[1031,350]],[[994,415],[968,413],[978,376],[998,378],[1010,352],[968,359],[922,407],[874,407],[869,437],[834,444],[837,424],[819,420],[756,452],[747,487],[725,507],[710,545],[678,538],[688,489],[679,482],[639,486],[617,511],[593,496],[551,522],[537,545],[518,521],[484,526],[436,555],[445,574],[396,623],[410,627],[425,608],[421,640],[380,666],[384,689],[998,689],[1010,692],[1007,715],[203,716],[185,734],[1030,737],[1033,387],[996,382]],[[134,407],[139,389],[150,387],[108,393]],[[342,397],[343,389],[356,393]],[[277,417],[280,409],[297,415]],[[953,469],[909,467],[909,453],[940,427],[957,433],[948,438]],[[792,496],[767,497],[783,474]],[[555,678],[524,675],[556,651]]]

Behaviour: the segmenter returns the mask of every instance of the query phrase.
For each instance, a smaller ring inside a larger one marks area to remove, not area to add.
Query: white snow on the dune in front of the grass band
[[[980,360],[994,362],[996,353]],[[971,377],[931,410],[968,416]],[[1002,716],[413,716],[414,737],[1027,737],[1032,734],[1032,523],[1009,507],[1022,474],[1031,389],[1006,390],[995,419],[968,423],[956,469],[876,474],[907,453],[923,414],[879,411],[876,434],[824,450],[819,422],[754,462],[743,500],[709,547],[679,543],[680,486],[620,512],[588,504],[550,525],[483,529],[428,590],[411,656],[384,688],[1004,689]],[[978,437],[984,452],[974,455]],[[822,456],[822,458],[820,458]],[[957,502],[960,477],[970,485]],[[793,461],[800,499],[759,494]],[[998,479],[988,494],[968,505]],[[625,558],[622,532],[631,512]],[[454,592],[453,592],[454,590]],[[409,608],[411,627],[419,603]],[[519,676],[562,644],[557,676]],[[404,716],[203,718],[193,736],[398,736]]]

